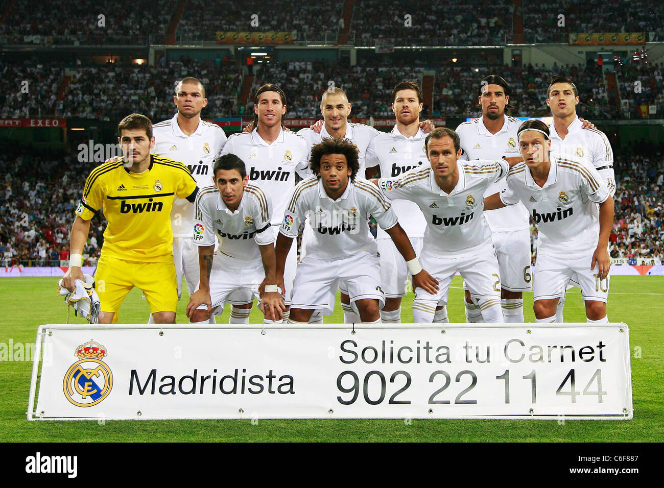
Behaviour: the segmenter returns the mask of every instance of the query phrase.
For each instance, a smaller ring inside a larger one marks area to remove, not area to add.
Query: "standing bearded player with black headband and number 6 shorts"
[[[481,118],[463,122],[456,133],[463,153],[459,159],[498,159],[520,162],[517,129],[521,121],[505,115],[509,104],[509,86],[498,75],[485,76],[478,90]],[[489,185],[483,197],[505,188],[505,180]],[[523,292],[531,289],[531,234],[528,211],[521,203],[485,212],[491,240],[496,246],[501,277],[501,305],[506,322],[523,322]],[[464,283],[464,289],[467,288]],[[465,290],[465,319],[481,319],[479,307]]]

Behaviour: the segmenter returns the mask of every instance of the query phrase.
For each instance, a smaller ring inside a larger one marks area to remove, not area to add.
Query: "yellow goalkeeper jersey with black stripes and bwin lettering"
[[[137,174],[125,169],[120,159],[92,170],[76,214],[90,220],[103,208],[108,220],[103,256],[169,262],[173,260],[173,200],[177,196],[193,203],[197,191],[196,180],[183,163],[151,154],[147,171]]]

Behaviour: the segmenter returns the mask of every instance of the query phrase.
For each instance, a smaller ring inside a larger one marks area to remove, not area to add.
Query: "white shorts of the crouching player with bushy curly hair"
[[[348,293],[355,311],[355,301],[361,299],[376,299],[382,308],[385,297],[380,288],[378,256],[363,253],[333,261],[307,256],[297,266],[291,307],[321,309],[323,315],[330,315],[334,312],[337,287]]]

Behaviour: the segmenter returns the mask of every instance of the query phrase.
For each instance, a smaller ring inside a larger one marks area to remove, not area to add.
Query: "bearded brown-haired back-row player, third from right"
[[[380,175],[386,178],[399,177],[426,165],[424,150],[426,133],[420,127],[420,112],[422,112],[420,86],[409,81],[394,86],[392,111],[396,118],[392,131],[378,133],[367,149],[367,165],[379,166]],[[400,199],[392,201],[392,208],[408,234],[415,252],[420,254],[426,228],[422,210],[413,201]],[[408,268],[394,242],[380,226],[376,237],[380,254],[380,281],[385,293],[385,305],[380,311],[380,318],[386,323],[399,323],[401,299],[406,295]],[[449,321],[447,307],[441,307],[436,311],[434,321]]]

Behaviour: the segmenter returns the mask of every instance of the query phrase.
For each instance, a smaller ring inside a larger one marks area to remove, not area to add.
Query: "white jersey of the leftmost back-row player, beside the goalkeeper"
[[[185,135],[177,125],[177,116],[175,114],[171,120],[152,126],[154,153],[173,161],[182,161],[191,171],[198,187],[208,187],[212,185],[214,157],[226,143],[226,133],[216,123],[201,120],[193,134]],[[193,205],[185,199],[175,199],[171,211],[173,237],[191,236],[193,222]]]

